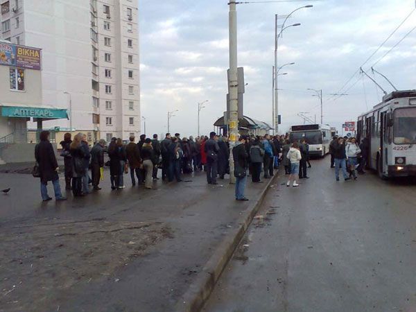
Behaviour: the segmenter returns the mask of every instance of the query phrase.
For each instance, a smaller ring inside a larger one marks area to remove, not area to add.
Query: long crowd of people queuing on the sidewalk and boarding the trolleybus
[[[218,184],[217,179],[224,179],[229,172],[230,144],[227,137],[211,132],[209,137],[180,137],[179,133],[171,136],[166,133],[162,141],[157,135],[153,139],[141,135],[139,141],[130,137],[128,144],[120,138],[113,137],[107,142],[99,140],[89,148],[87,137],[78,133],[71,138],[64,135],[60,142],[64,159],[65,189],[71,190],[74,197],[90,193],[89,184],[94,191],[101,190],[105,166],[110,167],[111,189],[124,189],[124,175],[130,172],[131,185],[143,184],[146,189],[153,189],[153,181],[159,180],[158,170],[162,169],[162,180],[182,182],[184,175],[194,171],[205,171],[207,184]],[[356,171],[363,173],[367,143],[365,139],[360,146],[355,138],[333,137],[329,153],[331,168],[335,168],[336,180],[339,180],[340,168],[345,180],[357,179]],[[108,160],[105,162],[105,154]],[[236,177],[236,200],[248,200],[245,197],[247,177],[253,183],[261,183],[275,173],[281,164],[288,175],[287,186],[299,187],[297,179],[309,179],[307,168],[309,162],[309,144],[306,139],[290,143],[288,135],[264,135],[239,137],[239,142],[232,150],[234,159],[234,176]],[[66,200],[60,191],[58,180],[58,162],[49,142],[49,132],[40,134],[40,144],[35,148],[35,159],[40,171],[42,200],[51,200],[46,189],[47,182],[53,183],[55,198]],[[357,168],[358,167],[358,168]],[[89,175],[91,171],[91,177]]]

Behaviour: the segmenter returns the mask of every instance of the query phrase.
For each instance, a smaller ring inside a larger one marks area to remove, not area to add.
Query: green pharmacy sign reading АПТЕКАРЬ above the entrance
[[[55,108],[37,108],[37,107],[1,107],[1,116],[18,117],[18,118],[44,118],[44,119],[67,119],[67,110]]]

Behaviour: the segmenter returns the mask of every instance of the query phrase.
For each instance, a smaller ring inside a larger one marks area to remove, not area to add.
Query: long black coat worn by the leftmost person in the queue
[[[58,162],[56,161],[53,146],[49,141],[41,141],[35,146],[35,159],[39,164],[40,181],[46,184],[48,181],[58,180]]]

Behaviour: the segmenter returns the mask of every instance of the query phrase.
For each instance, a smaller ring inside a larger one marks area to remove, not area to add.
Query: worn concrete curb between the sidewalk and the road
[[[232,258],[234,251],[238,247],[241,239],[245,235],[248,227],[252,223],[254,216],[259,211],[263,199],[270,188],[270,185],[277,180],[277,171],[272,179],[266,184],[266,187],[261,191],[259,198],[254,202],[254,205],[248,207],[243,216],[239,218],[239,225],[225,237],[218,248],[214,250],[214,254],[205,263],[204,268],[195,281],[189,286],[189,289],[181,297],[180,302],[175,306],[175,311],[182,312],[197,312],[202,309],[205,302],[211,295],[216,282],[221,276],[221,273],[227,266],[229,260]]]

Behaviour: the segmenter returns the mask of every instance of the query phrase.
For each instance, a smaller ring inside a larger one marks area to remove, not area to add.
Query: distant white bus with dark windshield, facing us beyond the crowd
[[[309,144],[309,155],[324,157],[329,153],[331,142],[331,129],[323,128],[321,125],[292,125],[289,131],[289,141],[306,139]]]

